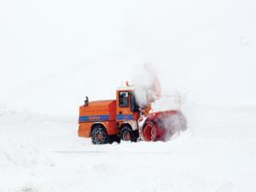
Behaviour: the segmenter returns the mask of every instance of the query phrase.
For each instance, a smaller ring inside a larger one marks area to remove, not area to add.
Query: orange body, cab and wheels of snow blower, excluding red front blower
[[[107,144],[120,140],[137,142],[137,120],[140,109],[134,89],[116,91],[116,100],[89,102],[79,108],[79,137],[91,137],[93,144]]]

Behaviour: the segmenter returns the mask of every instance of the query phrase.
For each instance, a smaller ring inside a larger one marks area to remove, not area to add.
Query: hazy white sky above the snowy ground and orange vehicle
[[[0,2],[0,106],[78,113],[149,61],[194,102],[255,104],[253,0]]]

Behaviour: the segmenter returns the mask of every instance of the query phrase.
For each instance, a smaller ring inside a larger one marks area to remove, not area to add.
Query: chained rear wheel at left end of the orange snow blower
[[[94,125],[91,131],[91,142],[95,145],[108,144],[108,133],[103,125]]]

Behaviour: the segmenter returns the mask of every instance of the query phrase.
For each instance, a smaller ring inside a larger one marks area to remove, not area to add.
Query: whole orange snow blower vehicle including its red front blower
[[[116,90],[116,99],[89,102],[79,108],[79,137],[91,137],[93,144],[123,141],[166,141],[177,130],[186,129],[186,119],[179,110],[150,112],[147,103],[137,102],[136,88],[127,84]],[[182,127],[182,128],[181,128]]]

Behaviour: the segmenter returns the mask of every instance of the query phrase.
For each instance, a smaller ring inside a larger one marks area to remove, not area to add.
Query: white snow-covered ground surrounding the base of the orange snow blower
[[[168,143],[93,146],[77,119],[0,109],[0,192],[256,190],[256,108],[194,106]]]

